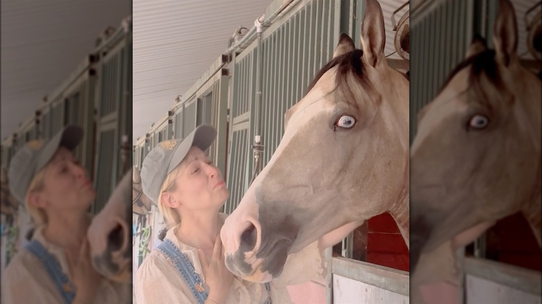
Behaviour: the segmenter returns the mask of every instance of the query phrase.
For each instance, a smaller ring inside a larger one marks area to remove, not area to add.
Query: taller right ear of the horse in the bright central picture
[[[363,58],[368,65],[376,67],[386,62],[384,47],[386,46],[386,29],[384,15],[377,0],[366,0],[365,14],[361,22],[361,46]]]

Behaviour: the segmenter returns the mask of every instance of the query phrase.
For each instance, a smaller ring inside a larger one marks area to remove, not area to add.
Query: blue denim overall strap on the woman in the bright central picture
[[[174,264],[179,272],[181,272],[181,276],[183,276],[188,287],[190,287],[190,292],[192,292],[196,298],[197,303],[203,304],[207,299],[208,294],[203,287],[202,280],[197,275],[190,260],[188,260],[188,257],[181,253],[179,248],[177,248],[170,239],[166,239],[157,249]]]

